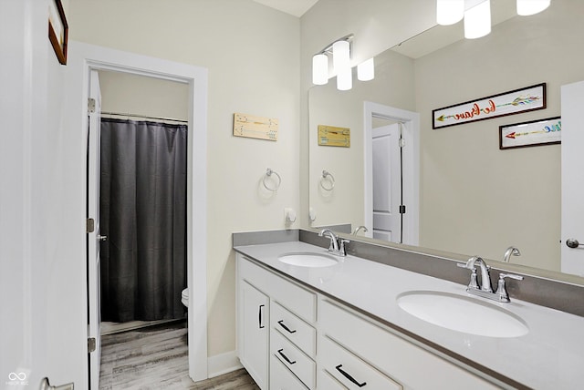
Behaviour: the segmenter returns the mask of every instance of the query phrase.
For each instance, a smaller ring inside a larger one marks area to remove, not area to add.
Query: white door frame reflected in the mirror
[[[373,226],[373,164],[372,134],[373,118],[402,122],[403,204],[406,213],[403,218],[403,243],[418,245],[420,241],[420,114],[401,108],[392,108],[370,101],[363,102],[363,145],[365,178],[365,226]]]

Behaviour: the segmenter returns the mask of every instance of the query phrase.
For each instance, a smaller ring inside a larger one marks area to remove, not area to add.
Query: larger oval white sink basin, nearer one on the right
[[[434,325],[465,334],[519,337],[527,324],[513,313],[489,303],[447,292],[404,292],[397,303],[405,312]]]

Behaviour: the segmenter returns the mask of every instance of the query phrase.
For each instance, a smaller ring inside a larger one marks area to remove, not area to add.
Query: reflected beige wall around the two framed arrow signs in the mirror
[[[560,86],[584,78],[581,15],[581,2],[557,0],[416,60],[422,246],[502,260],[515,245],[513,262],[559,271],[560,146],[499,150],[498,127],[560,115]],[[434,108],[541,82],[544,110],[432,129]]]

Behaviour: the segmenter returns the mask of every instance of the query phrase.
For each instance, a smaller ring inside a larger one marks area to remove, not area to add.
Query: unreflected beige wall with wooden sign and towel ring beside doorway
[[[235,350],[231,233],[283,229],[299,207],[299,19],[251,0],[88,0],[68,20],[70,39],[209,69],[208,354]],[[233,137],[235,112],[278,118],[278,140]],[[270,197],[266,168],[282,177]]]

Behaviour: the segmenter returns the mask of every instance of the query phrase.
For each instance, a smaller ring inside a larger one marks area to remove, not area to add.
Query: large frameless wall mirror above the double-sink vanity
[[[499,126],[560,116],[560,87],[584,80],[584,2],[553,0],[531,16],[516,15],[515,2],[491,6],[488,36],[464,39],[462,22],[435,26],[376,56],[374,80],[338,91],[332,79],[309,90],[311,227],[363,225],[369,231],[359,234],[372,237],[364,180],[369,101],[419,114],[419,200],[406,204],[419,226],[416,241],[406,243],[497,261],[515,246],[521,255],[511,262],[560,271],[561,145],[499,149]],[[545,109],[433,129],[433,109],[539,83],[547,86]],[[404,126],[391,116],[371,120],[373,128]],[[349,148],[318,145],[318,125],[349,128]],[[323,170],[334,189],[321,185]]]

